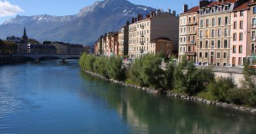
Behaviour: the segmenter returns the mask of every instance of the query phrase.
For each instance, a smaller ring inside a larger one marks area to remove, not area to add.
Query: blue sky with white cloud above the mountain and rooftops
[[[199,0],[128,0],[136,5],[183,12],[183,5],[196,6]],[[74,15],[96,0],[0,0],[0,24],[16,15]]]

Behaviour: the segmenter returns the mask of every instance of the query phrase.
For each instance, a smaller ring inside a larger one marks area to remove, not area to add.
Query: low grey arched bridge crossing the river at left
[[[63,63],[65,63],[67,59],[76,59],[80,58],[81,54],[4,54],[1,56],[11,56],[12,58],[15,57],[27,57],[34,59],[35,62],[39,62],[40,58],[58,58],[61,59]]]

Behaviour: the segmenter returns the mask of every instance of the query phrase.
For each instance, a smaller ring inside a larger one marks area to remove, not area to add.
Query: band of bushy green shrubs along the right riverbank
[[[232,78],[216,79],[211,68],[195,68],[193,62],[187,62],[185,57],[182,61],[177,66],[170,62],[166,70],[162,70],[162,58],[146,54],[136,59],[127,69],[122,66],[119,57],[104,58],[82,54],[79,65],[106,78],[122,80],[136,86],[162,88],[209,100],[256,106],[256,70],[245,65],[243,88],[238,88]]]

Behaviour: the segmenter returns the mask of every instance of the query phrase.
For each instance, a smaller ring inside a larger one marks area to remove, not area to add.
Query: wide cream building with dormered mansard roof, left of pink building
[[[246,0],[218,0],[199,7],[197,62],[214,66],[230,63],[232,11]]]

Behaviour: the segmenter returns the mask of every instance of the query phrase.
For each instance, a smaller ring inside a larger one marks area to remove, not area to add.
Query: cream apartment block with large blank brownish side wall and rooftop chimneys
[[[129,25],[129,57],[139,58],[148,53],[160,53],[151,46],[151,42],[158,38],[171,40],[174,44],[172,50],[178,52],[178,33],[179,18],[175,11],[152,11],[146,18],[139,14],[137,18],[132,18]]]

